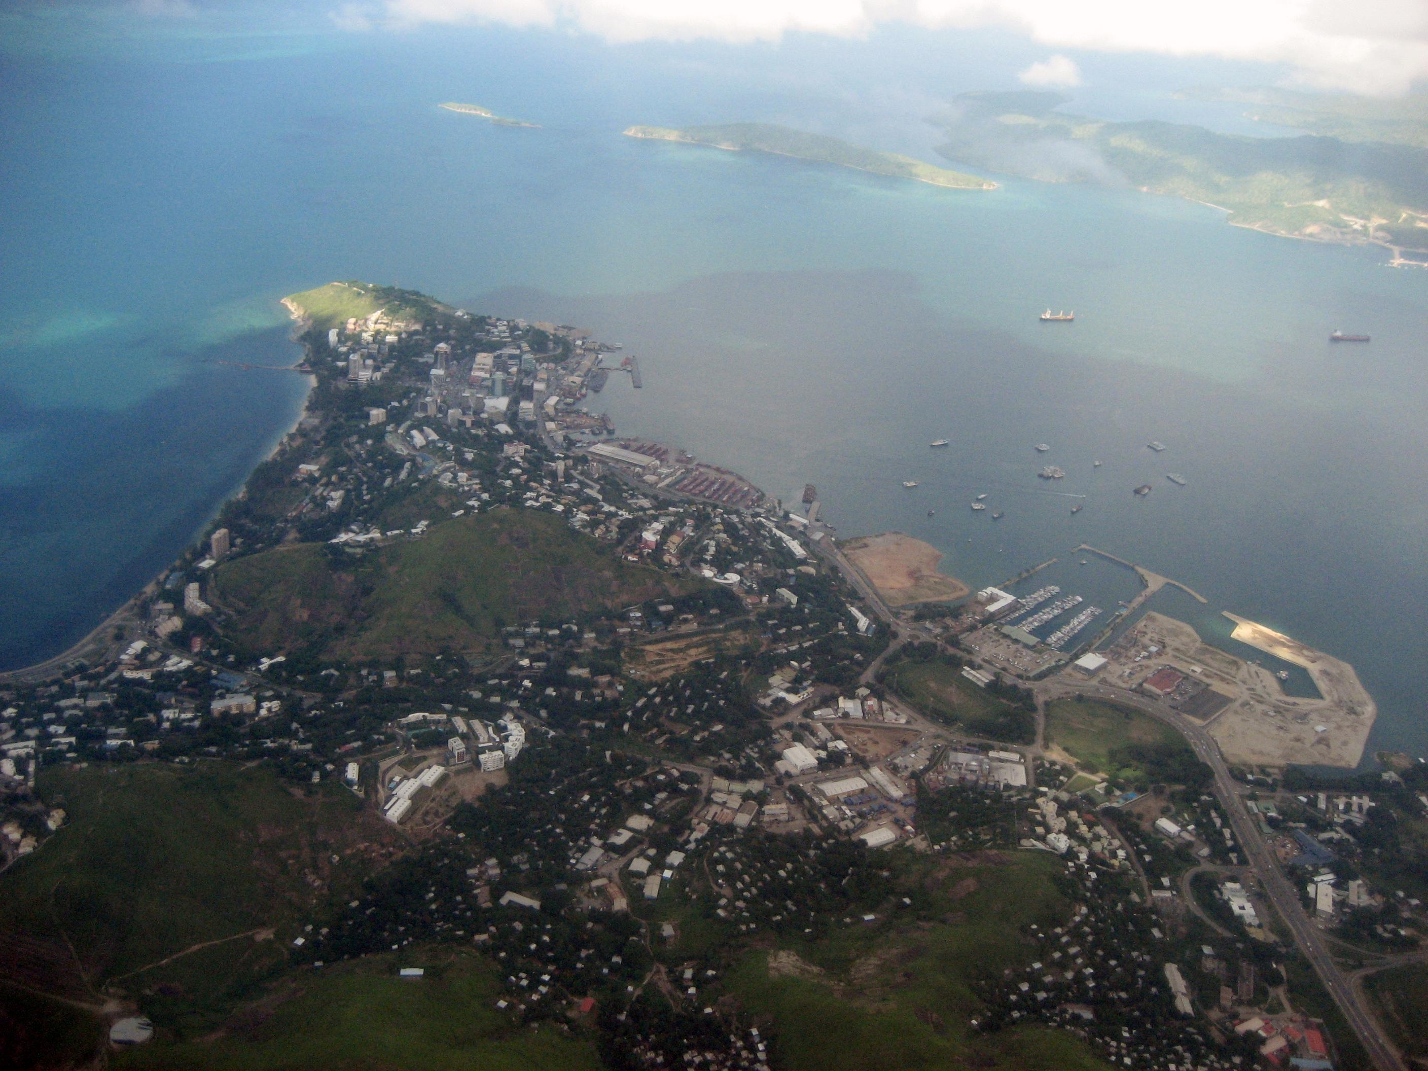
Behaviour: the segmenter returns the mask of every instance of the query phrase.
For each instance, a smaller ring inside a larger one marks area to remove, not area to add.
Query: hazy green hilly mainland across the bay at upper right
[[[1428,151],[1338,137],[1259,139],[1174,123],[1102,123],[1045,93],[965,94],[938,151],[1042,181],[1130,184],[1321,240],[1428,247]]]

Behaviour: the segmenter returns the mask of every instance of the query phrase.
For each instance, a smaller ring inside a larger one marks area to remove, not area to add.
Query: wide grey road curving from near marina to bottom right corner
[[[1107,700],[1114,700],[1124,705],[1135,707],[1160,721],[1175,728],[1185,740],[1190,743],[1195,754],[1214,771],[1215,774],[1215,797],[1220,800],[1221,807],[1225,808],[1225,814],[1230,815],[1230,825],[1240,840],[1240,847],[1244,851],[1250,867],[1258,875],[1261,887],[1264,888],[1265,898],[1274,904],[1274,908],[1279,912],[1285,925],[1289,927],[1289,932],[1294,934],[1294,942],[1299,947],[1312,965],[1315,972],[1319,975],[1319,981],[1324,982],[1324,988],[1328,990],[1329,997],[1338,1005],[1339,1011],[1344,1012],[1344,1018],[1354,1028],[1358,1035],[1359,1042],[1368,1051],[1369,1058],[1379,1071],[1407,1071],[1402,1057],[1394,1044],[1388,1040],[1384,1028],[1379,1025],[1368,1008],[1364,1004],[1362,995],[1349,984],[1344,971],[1339,970],[1338,964],[1334,962],[1334,957],[1329,954],[1327,942],[1319,934],[1318,928],[1312,921],[1304,914],[1299,907],[1299,897],[1294,885],[1279,870],[1278,860],[1274,857],[1274,851],[1269,848],[1268,841],[1259,833],[1259,827],[1250,818],[1248,811],[1245,811],[1244,801],[1240,797],[1238,784],[1230,775],[1230,767],[1225,765],[1224,755],[1220,754],[1220,747],[1215,744],[1210,733],[1204,727],[1195,724],[1194,721],[1185,718],[1180,711],[1167,707],[1162,703],[1152,701],[1131,693],[1122,691],[1121,688],[1108,688],[1101,685],[1075,685],[1062,681],[1044,681],[1041,684],[1032,685],[1038,695],[1047,700],[1060,698],[1072,694],[1097,695]]]

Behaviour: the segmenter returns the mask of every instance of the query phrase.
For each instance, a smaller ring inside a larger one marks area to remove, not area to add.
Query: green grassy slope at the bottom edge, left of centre
[[[411,958],[427,977],[404,981],[387,957],[303,972],[216,1038],[176,1042],[161,1032],[120,1054],[119,1068],[213,1071],[564,1071],[600,1067],[594,1045],[548,1024],[523,1028],[496,1008],[493,970],[474,954]]]

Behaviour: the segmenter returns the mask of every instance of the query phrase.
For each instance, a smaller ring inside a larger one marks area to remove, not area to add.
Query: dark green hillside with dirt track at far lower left
[[[301,798],[266,768],[57,767],[40,790],[69,824],[0,877],[0,974],[81,1004],[146,992],[180,1028],[284,968],[303,920],[367,873],[358,838],[390,835],[336,784]]]

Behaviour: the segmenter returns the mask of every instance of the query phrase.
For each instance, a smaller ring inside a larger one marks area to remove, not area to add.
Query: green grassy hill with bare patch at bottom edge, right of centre
[[[1102,1068],[1070,1034],[1024,1028],[978,1037],[970,982],[985,970],[1021,962],[1028,922],[1055,925],[1068,904],[1050,877],[1057,861],[1007,854],[1001,864],[948,868],[941,860],[907,865],[921,921],[897,915],[853,922],[818,944],[785,947],[823,974],[770,972],[770,954],[747,955],[728,978],[751,1011],[775,1022],[790,1071],[915,1071],[944,1067],[1021,1070]],[[991,1062],[994,1061],[994,1062]]]

